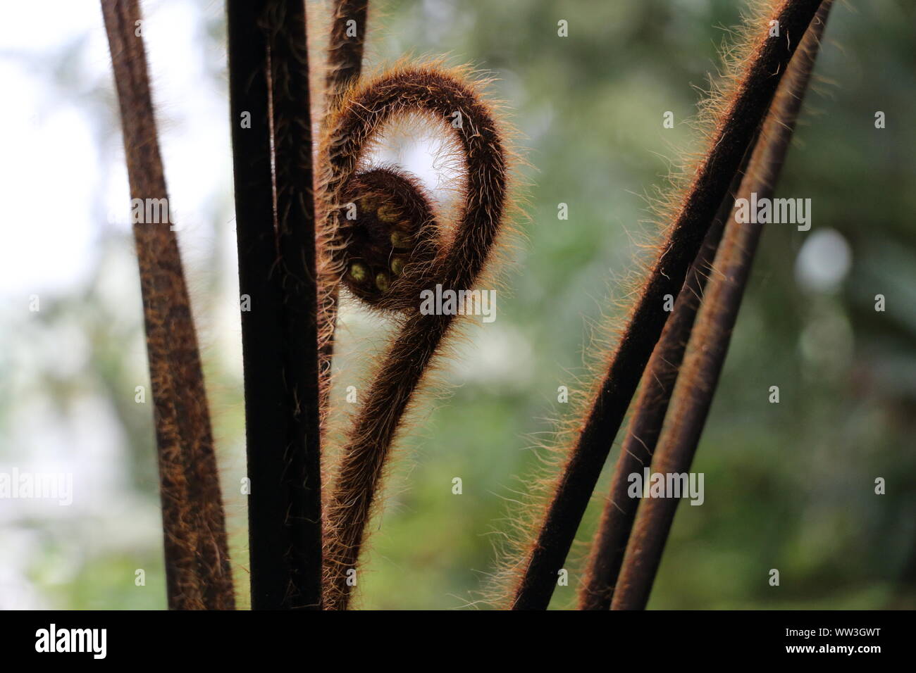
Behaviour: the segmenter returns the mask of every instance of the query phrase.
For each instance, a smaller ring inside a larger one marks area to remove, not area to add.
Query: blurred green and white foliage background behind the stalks
[[[223,3],[142,5],[245,605]],[[655,231],[653,190],[679,153],[699,147],[690,120],[739,5],[372,3],[370,69],[406,53],[447,53],[497,78],[492,91],[507,102],[529,164],[519,169],[529,218],[507,254],[510,289],[498,294],[496,321],[467,331],[443,367],[450,396],[421,406],[398,442],[361,575],[363,607],[483,607],[508,501],[538,463],[531,447],[570,417],[558,386],[571,402],[581,394],[594,327],[619,324],[621,279]],[[327,3],[309,9],[323,15]],[[569,37],[558,36],[561,20]],[[916,607],[914,24],[907,0],[834,7],[778,190],[812,199],[812,229],[764,234],[693,464],[705,474],[705,503],[680,507],[649,607]],[[320,62],[323,44],[312,37]],[[5,6],[0,81],[0,472],[73,475],[69,506],[0,500],[0,607],[161,609],[152,407],[148,394],[136,401],[136,386],[148,391],[146,350],[98,3]],[[665,129],[669,111],[675,125]],[[878,111],[886,128],[875,127]],[[401,138],[390,158],[447,188],[434,146]],[[560,203],[568,220],[558,220]],[[382,348],[379,327],[344,309],[340,385],[359,380],[365,355],[354,353]],[[771,385],[779,404],[769,404]],[[348,405],[335,396],[344,423]],[[552,607],[574,604],[608,476]],[[875,494],[878,477],[886,494]],[[780,570],[778,588],[770,569]]]

